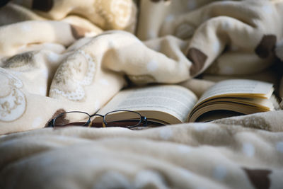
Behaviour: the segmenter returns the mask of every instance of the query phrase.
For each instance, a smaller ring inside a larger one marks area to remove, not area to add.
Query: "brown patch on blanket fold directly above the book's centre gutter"
[[[195,76],[204,67],[204,63],[207,60],[207,55],[198,50],[197,48],[190,48],[187,53],[187,58],[192,62],[190,67],[190,75]]]

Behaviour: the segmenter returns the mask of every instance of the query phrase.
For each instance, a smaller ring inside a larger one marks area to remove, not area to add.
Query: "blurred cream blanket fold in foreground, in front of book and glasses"
[[[282,188],[283,121],[139,132],[70,127],[1,137],[1,188]],[[257,115],[268,122],[274,115]]]

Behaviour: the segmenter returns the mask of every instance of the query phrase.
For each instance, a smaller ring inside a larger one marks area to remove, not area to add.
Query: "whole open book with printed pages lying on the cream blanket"
[[[120,91],[98,113],[134,110],[162,124],[209,121],[275,110],[272,84],[247,79],[220,81],[197,99],[188,88],[156,85]],[[127,119],[127,114],[119,115]]]

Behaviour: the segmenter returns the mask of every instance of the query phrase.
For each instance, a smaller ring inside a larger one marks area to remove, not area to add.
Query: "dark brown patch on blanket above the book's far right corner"
[[[269,57],[275,49],[276,36],[264,35],[260,40],[260,44],[255,48],[255,54],[264,59]]]

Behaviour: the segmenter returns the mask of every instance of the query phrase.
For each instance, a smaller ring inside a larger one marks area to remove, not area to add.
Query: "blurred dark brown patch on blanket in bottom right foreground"
[[[270,188],[270,178],[268,178],[268,175],[271,173],[270,170],[243,168],[243,171],[246,172],[250,183],[252,183],[255,188]]]

